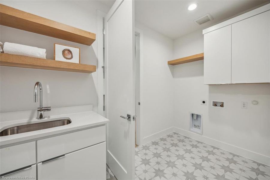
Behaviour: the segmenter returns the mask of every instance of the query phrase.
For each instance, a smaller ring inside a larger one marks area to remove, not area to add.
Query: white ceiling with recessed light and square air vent
[[[187,10],[188,5],[194,2],[199,4],[198,7],[193,11]],[[171,39],[176,39],[266,2],[261,0],[136,0],[135,20]],[[193,22],[194,19],[207,13],[214,18],[212,21],[200,26]]]

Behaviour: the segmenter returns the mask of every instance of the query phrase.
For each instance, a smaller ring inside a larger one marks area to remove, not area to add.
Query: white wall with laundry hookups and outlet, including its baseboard
[[[174,41],[174,58],[203,52],[202,31]],[[173,66],[177,131],[236,154],[270,164],[270,84],[203,85],[203,60]],[[208,106],[200,100],[208,100]],[[211,100],[226,102],[212,108]],[[258,105],[252,105],[256,100]],[[241,109],[241,101],[248,109]],[[203,135],[190,133],[189,112],[203,115]],[[238,147],[238,148],[237,148]]]

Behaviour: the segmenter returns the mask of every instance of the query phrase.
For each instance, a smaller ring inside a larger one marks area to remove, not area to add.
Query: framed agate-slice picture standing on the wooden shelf
[[[54,60],[72,63],[81,63],[81,49],[75,46],[54,44]]]

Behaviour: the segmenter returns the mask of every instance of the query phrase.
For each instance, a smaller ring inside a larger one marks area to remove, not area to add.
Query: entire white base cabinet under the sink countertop
[[[106,128],[99,125],[1,148],[1,176],[106,179]],[[2,177],[1,177],[2,179]]]

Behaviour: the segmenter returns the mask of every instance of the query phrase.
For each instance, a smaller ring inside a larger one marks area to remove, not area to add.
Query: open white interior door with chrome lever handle
[[[105,17],[107,164],[118,180],[134,179],[134,1],[118,0]],[[124,119],[120,116],[130,119]],[[130,120],[130,121],[129,121]]]

